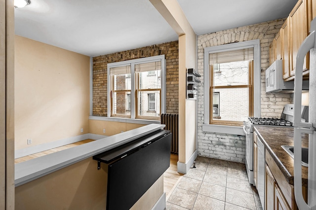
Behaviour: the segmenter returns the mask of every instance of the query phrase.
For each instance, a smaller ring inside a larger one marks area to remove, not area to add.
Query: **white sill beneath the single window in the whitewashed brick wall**
[[[202,131],[206,133],[221,133],[245,136],[243,128],[239,126],[203,124]]]

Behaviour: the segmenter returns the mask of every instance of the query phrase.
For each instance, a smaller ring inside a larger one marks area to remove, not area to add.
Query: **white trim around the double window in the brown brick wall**
[[[166,68],[165,68],[165,58],[164,55],[152,56],[147,58],[139,58],[134,60],[120,61],[116,63],[108,64],[108,117],[111,117],[111,76],[110,76],[110,68],[118,67],[118,66],[131,66],[131,120],[135,119],[136,111],[135,110],[135,65],[140,63],[149,63],[161,61],[161,113],[165,113],[166,110]],[[115,117],[118,118],[118,117]],[[108,119],[108,118],[106,118]],[[125,119],[125,118],[123,118]]]

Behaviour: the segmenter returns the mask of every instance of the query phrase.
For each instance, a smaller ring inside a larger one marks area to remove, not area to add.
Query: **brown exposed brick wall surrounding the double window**
[[[93,116],[107,116],[107,64],[138,58],[165,55],[166,113],[179,110],[179,52],[178,41],[117,52],[93,58]]]

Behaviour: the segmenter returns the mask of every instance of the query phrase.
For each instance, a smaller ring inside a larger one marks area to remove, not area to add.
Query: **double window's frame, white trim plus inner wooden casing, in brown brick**
[[[126,60],[126,61],[120,61],[116,63],[109,63],[107,65],[107,116],[108,117],[118,117],[118,118],[127,118],[126,116],[112,116],[112,81],[111,81],[111,75],[110,75],[110,68],[119,67],[119,66],[128,66],[131,67],[131,114],[128,118],[131,119],[145,119],[145,120],[157,120],[158,117],[139,117],[137,116],[137,88],[136,88],[136,73],[135,73],[135,65],[136,64],[142,64],[142,63],[151,63],[155,61],[161,62],[161,90],[160,90],[160,114],[165,113],[166,110],[166,73],[165,73],[165,56],[164,55],[158,55],[158,56],[152,56],[147,58],[140,58],[140,59],[133,59],[133,60]],[[160,118],[160,116],[159,116]]]

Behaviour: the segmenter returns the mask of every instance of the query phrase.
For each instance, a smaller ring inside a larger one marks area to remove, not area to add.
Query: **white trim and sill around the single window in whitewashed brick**
[[[226,126],[226,125],[213,125],[209,124],[209,85],[210,85],[210,69],[209,69],[209,54],[221,51],[237,50],[242,48],[253,47],[254,53],[254,70],[253,70],[253,103],[254,103],[254,117],[260,117],[261,115],[261,104],[260,104],[260,93],[261,93],[261,49],[260,39],[243,41],[231,44],[224,44],[214,47],[204,48],[204,124],[202,125],[203,132],[209,133],[225,133],[234,135],[245,135],[242,127],[239,126]]]

